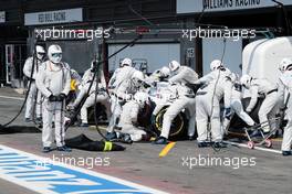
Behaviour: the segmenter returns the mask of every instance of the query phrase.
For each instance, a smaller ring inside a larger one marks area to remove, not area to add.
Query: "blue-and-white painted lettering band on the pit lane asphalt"
[[[165,194],[106,174],[55,163],[0,144],[0,179],[43,194]],[[17,155],[11,159],[11,155]],[[43,162],[45,161],[45,165]]]

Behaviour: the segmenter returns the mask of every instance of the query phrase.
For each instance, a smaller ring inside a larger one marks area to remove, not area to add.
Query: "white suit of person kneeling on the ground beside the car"
[[[129,134],[133,141],[140,141],[146,134],[144,130],[137,127],[137,117],[143,107],[144,105],[139,105],[135,100],[127,101],[123,106],[118,125],[122,127],[121,132]]]

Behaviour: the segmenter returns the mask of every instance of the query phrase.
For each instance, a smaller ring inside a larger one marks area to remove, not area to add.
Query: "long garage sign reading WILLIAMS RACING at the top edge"
[[[291,0],[279,0],[285,6],[292,4]],[[212,11],[231,11],[275,7],[271,0],[177,0],[177,13],[200,13]]]

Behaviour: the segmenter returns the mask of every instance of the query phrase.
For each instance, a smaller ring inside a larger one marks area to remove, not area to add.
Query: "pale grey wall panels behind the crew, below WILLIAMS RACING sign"
[[[223,55],[223,39],[204,39],[202,40],[202,65],[204,75],[210,72],[210,63],[213,60],[221,60]],[[239,65],[242,58],[242,40],[226,41],[226,51],[223,55],[223,63],[234,73],[241,75]]]

